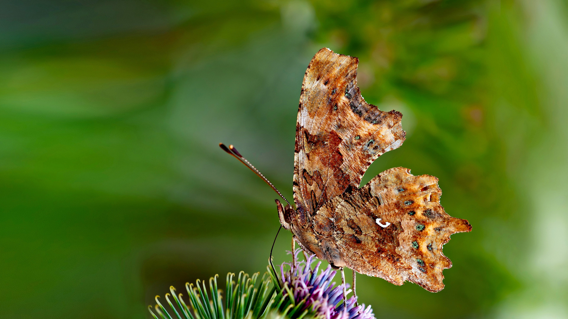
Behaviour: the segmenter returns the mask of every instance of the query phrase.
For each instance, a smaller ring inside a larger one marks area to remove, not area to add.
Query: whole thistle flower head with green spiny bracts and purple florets
[[[343,284],[335,287],[332,282],[336,271],[328,266],[318,275],[321,262],[312,268],[314,256],[305,253],[306,260],[298,262],[300,251],[295,251],[293,262],[280,266],[279,275],[270,267],[260,280],[259,272],[249,277],[241,271],[237,278],[229,272],[224,302],[215,275],[209,279],[209,293],[205,281],[197,280],[195,286],[186,283],[189,299],[184,300],[172,286],[172,294],[165,295],[170,311],[160,303],[160,296],[154,310],[150,306],[148,310],[154,319],[174,319],[172,314],[177,319],[375,319],[371,306],[357,306],[354,296],[345,307]],[[290,270],[285,271],[285,265]]]

